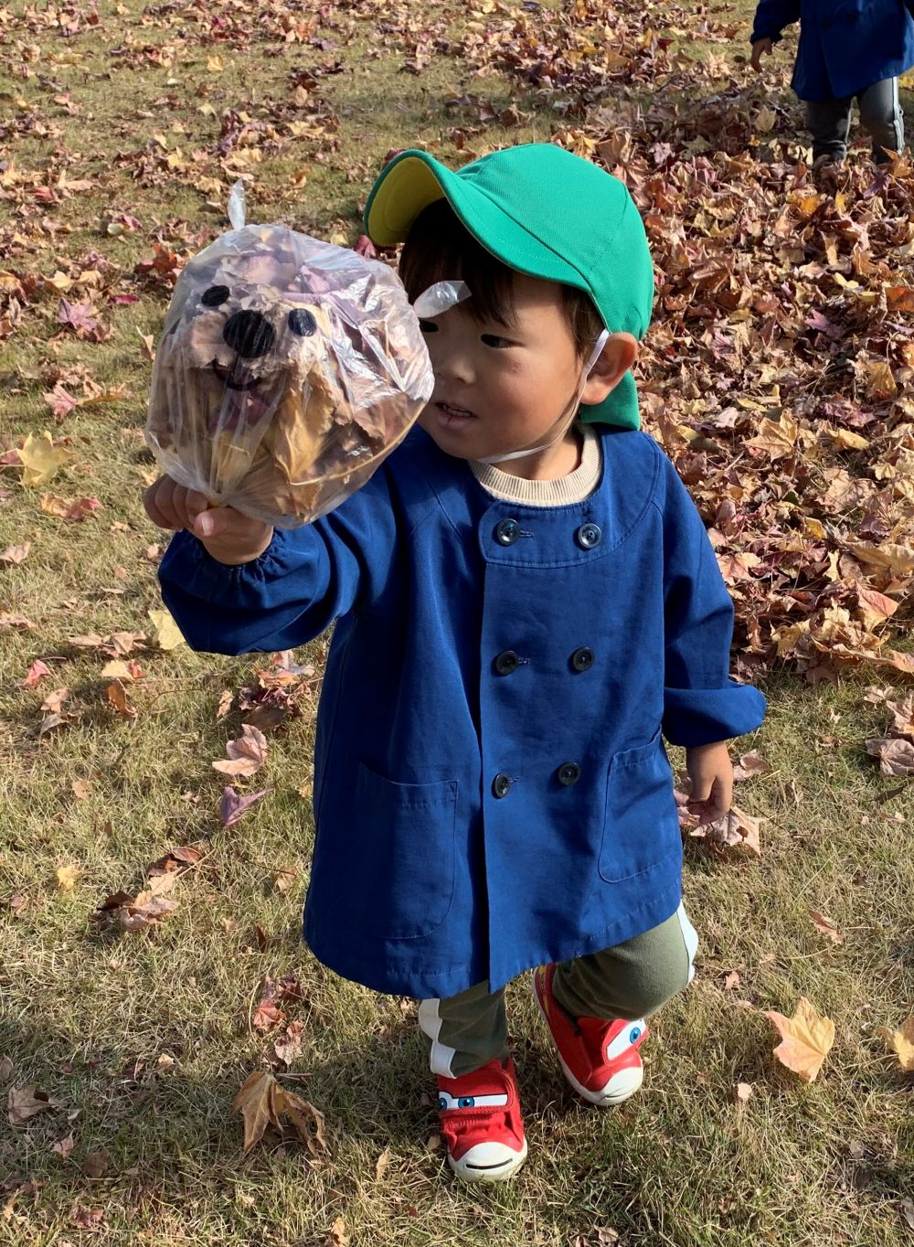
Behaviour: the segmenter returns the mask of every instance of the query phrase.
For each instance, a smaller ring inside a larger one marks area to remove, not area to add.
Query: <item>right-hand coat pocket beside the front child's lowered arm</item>
[[[657,732],[650,744],[616,753],[610,763],[600,877],[621,883],[681,852],[672,771]]]

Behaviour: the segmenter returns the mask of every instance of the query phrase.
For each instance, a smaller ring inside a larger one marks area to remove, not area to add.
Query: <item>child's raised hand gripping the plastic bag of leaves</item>
[[[273,540],[273,529],[231,506],[211,508],[206,495],[171,476],[160,476],[143,494],[143,506],[160,529],[187,529],[213,559],[234,566],[259,557]]]

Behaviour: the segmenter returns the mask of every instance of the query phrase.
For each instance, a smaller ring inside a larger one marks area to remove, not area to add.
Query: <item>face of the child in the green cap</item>
[[[584,360],[562,313],[561,287],[515,273],[512,303],[510,327],[480,324],[460,304],[420,322],[435,389],[419,423],[458,459],[549,441],[580,385]]]

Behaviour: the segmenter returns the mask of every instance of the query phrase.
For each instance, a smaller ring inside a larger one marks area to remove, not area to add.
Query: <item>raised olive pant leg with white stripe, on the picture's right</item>
[[[552,991],[575,1018],[645,1018],[691,983],[697,948],[698,936],[680,905],[672,918],[643,935],[561,961]]]

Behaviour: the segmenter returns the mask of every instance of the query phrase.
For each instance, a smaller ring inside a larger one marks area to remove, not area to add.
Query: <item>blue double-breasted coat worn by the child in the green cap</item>
[[[337,620],[304,934],[379,991],[498,989],[668,918],[682,845],[661,731],[753,731],[733,607],[650,438],[601,429],[584,503],[500,501],[415,429],[335,511],[226,567],[177,534],[162,595],[196,650]]]

